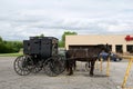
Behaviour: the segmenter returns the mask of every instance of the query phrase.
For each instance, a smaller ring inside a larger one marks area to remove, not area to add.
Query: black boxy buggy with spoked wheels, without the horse
[[[48,76],[58,76],[64,71],[64,57],[58,55],[58,39],[54,37],[30,37],[23,40],[23,56],[13,62],[14,71],[20,76],[37,73],[42,69]]]

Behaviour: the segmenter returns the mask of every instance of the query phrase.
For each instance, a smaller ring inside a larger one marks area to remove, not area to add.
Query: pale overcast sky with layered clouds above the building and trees
[[[133,34],[133,0],[0,0],[0,37]]]

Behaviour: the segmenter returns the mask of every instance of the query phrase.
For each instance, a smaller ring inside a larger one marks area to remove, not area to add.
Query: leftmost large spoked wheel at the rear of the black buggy
[[[20,76],[27,76],[32,69],[32,59],[30,56],[20,56],[13,62],[14,71]]]

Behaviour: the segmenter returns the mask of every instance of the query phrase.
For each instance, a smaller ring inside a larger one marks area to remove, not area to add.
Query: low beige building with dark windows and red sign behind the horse
[[[133,52],[133,34],[81,34],[65,37],[66,49],[106,43],[113,52]]]

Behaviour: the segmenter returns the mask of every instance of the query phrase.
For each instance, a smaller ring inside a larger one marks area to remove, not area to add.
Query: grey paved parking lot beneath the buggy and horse
[[[64,71],[58,77],[48,77],[43,71],[29,76],[19,76],[13,70],[16,57],[0,57],[0,89],[121,89],[127,60],[111,62],[110,77],[105,76],[106,62],[103,71],[95,69],[94,77],[89,76],[84,62],[78,62],[73,76]],[[133,88],[133,67],[126,86]]]

